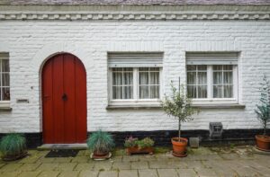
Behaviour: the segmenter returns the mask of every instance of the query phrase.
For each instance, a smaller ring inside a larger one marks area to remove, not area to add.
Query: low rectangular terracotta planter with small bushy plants
[[[150,155],[154,154],[154,146],[155,142],[150,137],[145,137],[141,140],[138,138],[129,137],[126,138],[124,146],[126,147],[127,155],[131,154],[145,154],[148,153]]]

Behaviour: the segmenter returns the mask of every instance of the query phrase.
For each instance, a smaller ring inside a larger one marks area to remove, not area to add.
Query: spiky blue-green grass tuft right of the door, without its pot
[[[108,153],[114,147],[112,135],[98,130],[88,137],[87,146],[93,152]]]

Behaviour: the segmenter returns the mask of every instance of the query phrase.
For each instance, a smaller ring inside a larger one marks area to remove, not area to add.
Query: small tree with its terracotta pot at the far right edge
[[[270,83],[269,80],[267,80],[266,75],[264,75],[260,92],[261,98],[255,112],[264,128],[264,134],[256,136],[257,148],[259,150],[270,151],[270,137],[266,135],[267,121],[270,120]]]

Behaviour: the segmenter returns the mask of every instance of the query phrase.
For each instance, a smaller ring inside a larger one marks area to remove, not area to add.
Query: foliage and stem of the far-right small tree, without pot
[[[263,77],[263,83],[260,88],[261,98],[260,102],[257,104],[257,118],[262,123],[264,128],[264,136],[266,136],[266,127],[267,121],[270,120],[270,82],[266,78],[266,75]]]

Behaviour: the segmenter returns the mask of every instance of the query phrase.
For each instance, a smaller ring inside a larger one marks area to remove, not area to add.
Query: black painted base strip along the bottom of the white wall
[[[155,140],[156,146],[171,146],[171,137],[177,137],[177,130],[157,130],[157,131],[113,131],[109,132],[115,141],[116,146],[123,146],[126,137],[151,137]],[[255,135],[262,134],[263,129],[224,129],[222,139],[210,139],[209,130],[183,130],[182,137],[200,137],[202,146],[224,146],[224,145],[250,145],[255,143]],[[91,132],[87,133],[91,135]],[[5,134],[0,133],[0,138]],[[42,145],[42,132],[24,133],[28,148],[36,148]],[[270,135],[270,129],[267,129]]]

